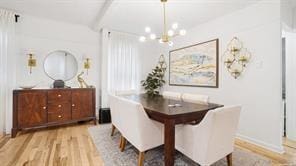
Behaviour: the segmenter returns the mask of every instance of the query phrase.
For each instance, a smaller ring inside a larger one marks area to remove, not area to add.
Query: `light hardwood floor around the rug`
[[[74,166],[103,165],[87,128],[92,123],[77,124],[19,134],[0,139],[0,165]],[[110,128],[111,132],[111,128]],[[236,140],[238,148],[270,158],[273,165],[296,165],[296,149],[286,147],[279,155],[247,142]]]

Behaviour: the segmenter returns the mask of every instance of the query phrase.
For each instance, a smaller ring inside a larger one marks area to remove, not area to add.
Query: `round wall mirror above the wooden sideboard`
[[[44,71],[53,80],[67,81],[78,71],[76,58],[66,51],[54,51],[44,60]]]

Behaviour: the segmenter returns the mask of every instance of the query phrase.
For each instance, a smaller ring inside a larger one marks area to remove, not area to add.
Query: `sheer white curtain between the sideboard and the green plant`
[[[135,36],[119,32],[109,34],[109,92],[139,89],[138,44]]]

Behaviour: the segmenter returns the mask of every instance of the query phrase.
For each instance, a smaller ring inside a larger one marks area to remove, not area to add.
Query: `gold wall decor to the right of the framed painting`
[[[224,65],[228,72],[237,79],[245,70],[251,59],[251,53],[244,48],[242,42],[234,37],[227,45],[227,50],[223,55]]]

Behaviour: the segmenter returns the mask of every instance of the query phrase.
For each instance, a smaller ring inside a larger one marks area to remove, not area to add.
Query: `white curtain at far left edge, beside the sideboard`
[[[0,132],[7,134],[12,128],[15,64],[15,13],[0,9]]]

